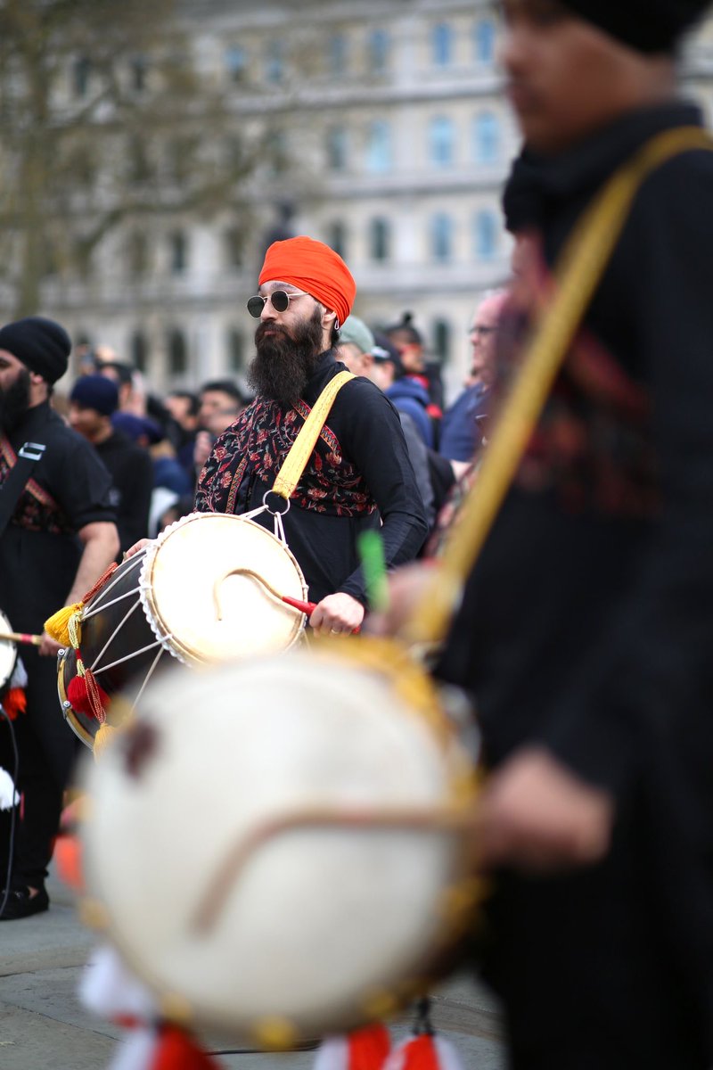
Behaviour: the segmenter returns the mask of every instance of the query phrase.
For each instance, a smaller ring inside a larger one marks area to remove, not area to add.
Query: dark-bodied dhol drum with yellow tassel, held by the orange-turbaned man
[[[306,598],[299,565],[272,532],[232,515],[184,517],[123,562],[81,614],[79,651],[111,700],[107,723],[126,719],[129,707],[114,697],[135,677],[148,682],[165,654],[198,667],[290,647],[307,618],[274,592]],[[60,655],[60,702],[72,729],[93,747],[98,720],[67,698],[77,658],[72,647]]]

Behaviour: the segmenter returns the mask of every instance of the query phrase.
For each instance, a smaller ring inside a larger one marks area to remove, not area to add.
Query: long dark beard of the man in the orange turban
[[[265,337],[265,332],[275,332]],[[248,382],[257,395],[291,409],[314,374],[322,354],[322,314],[297,323],[288,334],[273,322],[255,331],[257,356],[248,368]]]

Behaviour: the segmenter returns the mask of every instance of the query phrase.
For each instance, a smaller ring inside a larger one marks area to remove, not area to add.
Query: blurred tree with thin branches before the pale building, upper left
[[[234,137],[175,0],[0,0],[0,286],[6,312],[52,275],[88,279],[120,224],[230,209],[261,158]],[[176,221],[176,226],[180,223]]]

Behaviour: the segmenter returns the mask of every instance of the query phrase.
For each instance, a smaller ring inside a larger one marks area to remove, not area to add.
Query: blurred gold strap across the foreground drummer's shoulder
[[[648,141],[609,179],[569,239],[555,269],[557,292],[534,325],[523,365],[498,416],[493,438],[444,555],[423,598],[402,628],[409,643],[439,643],[515,475],[570,342],[619,240],[644,180],[666,160],[693,149],[713,150],[697,126],[682,126]]]

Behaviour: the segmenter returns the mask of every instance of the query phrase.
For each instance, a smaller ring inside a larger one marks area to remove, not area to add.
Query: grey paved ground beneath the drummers
[[[104,1070],[122,1031],[80,1007],[76,991],[94,935],[79,922],[72,893],[50,880],[51,907],[26,921],[0,923],[0,1068]],[[452,1040],[466,1070],[503,1070],[492,1000],[456,978],[436,995],[434,1022]],[[407,1021],[392,1026],[396,1040]],[[311,1070],[313,1052],[248,1054],[216,1048],[222,1067]]]

